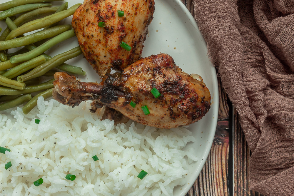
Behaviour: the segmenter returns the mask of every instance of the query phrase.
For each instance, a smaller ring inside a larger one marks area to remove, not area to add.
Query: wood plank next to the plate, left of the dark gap
[[[219,83],[219,114],[216,135],[211,151],[198,179],[186,196],[226,196],[228,187],[228,159],[229,159],[229,102],[226,93]]]

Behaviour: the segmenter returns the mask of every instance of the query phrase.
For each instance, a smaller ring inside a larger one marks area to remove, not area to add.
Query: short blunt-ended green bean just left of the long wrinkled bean
[[[14,68],[11,68],[10,70],[3,73],[2,76],[11,79],[16,76],[19,76],[20,74],[22,74],[30,69],[36,68],[37,66],[39,66],[45,62],[46,62],[45,57],[43,55],[41,55],[41,56],[33,58],[29,61],[21,63],[20,65],[15,66]]]

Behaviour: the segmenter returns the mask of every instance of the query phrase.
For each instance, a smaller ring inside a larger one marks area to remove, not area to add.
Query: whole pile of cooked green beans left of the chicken
[[[4,31],[0,27],[0,111],[25,104],[22,110],[28,114],[36,107],[38,97],[52,97],[53,75],[58,71],[54,68],[86,74],[82,68],[65,63],[82,54],[79,46],[53,58],[45,53],[75,36],[70,24],[58,25],[58,22],[74,14],[81,5],[68,9],[65,2],[51,7],[52,1],[63,0],[12,0],[0,4],[0,20],[5,19],[7,25]],[[48,16],[50,12],[53,14]],[[35,19],[45,14],[47,16]],[[24,33],[35,30],[39,31],[24,36]],[[11,48],[18,47],[21,48],[9,52]],[[41,79],[48,81],[40,84]]]

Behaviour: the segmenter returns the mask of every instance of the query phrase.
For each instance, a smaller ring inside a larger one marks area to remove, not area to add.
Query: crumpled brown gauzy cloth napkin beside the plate
[[[252,152],[251,189],[294,195],[294,0],[195,0],[194,6]]]

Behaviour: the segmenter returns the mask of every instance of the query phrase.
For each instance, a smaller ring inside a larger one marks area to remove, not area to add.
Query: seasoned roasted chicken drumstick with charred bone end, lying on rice
[[[157,128],[176,128],[201,119],[210,108],[210,92],[203,81],[192,78],[167,54],[152,55],[126,67],[109,69],[101,83],[76,81],[64,72],[54,75],[53,97],[73,107],[93,100],[92,111],[106,105],[138,123]],[[151,89],[161,94],[155,98]],[[136,103],[133,108],[130,102]],[[150,114],[142,108],[147,106]]]

